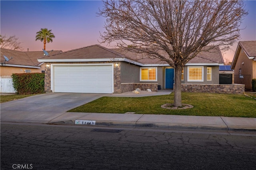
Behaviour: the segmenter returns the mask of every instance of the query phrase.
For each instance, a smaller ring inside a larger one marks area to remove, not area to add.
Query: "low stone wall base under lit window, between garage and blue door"
[[[158,83],[121,83],[122,93],[126,91],[133,91],[137,88],[141,90],[151,89],[152,91],[157,91]]]

